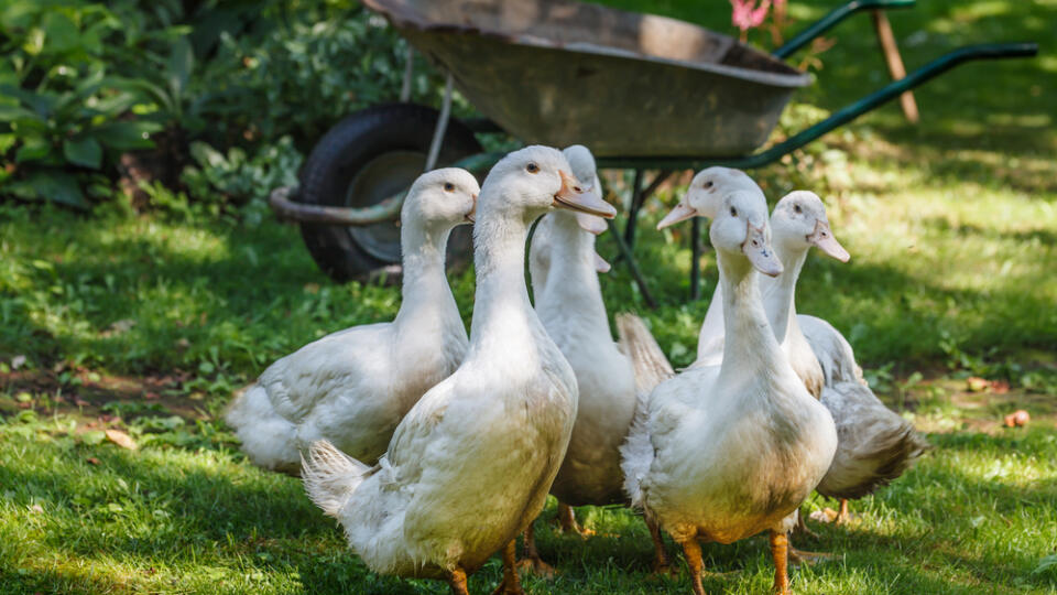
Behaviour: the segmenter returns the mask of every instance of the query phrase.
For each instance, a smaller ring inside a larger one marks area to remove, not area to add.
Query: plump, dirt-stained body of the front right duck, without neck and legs
[[[758,334],[759,322],[749,323]],[[676,541],[731,543],[782,526],[832,459],[832,420],[792,367],[773,353],[741,355],[730,353],[726,369],[686,370],[650,397],[656,454],[642,500]]]

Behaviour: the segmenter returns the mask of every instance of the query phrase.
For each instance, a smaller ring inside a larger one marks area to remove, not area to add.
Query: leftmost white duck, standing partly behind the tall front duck
[[[296,474],[301,452],[329,440],[373,464],[404,414],[466,354],[466,328],[448,286],[448,236],[470,223],[480,192],[466,170],[419,176],[401,209],[403,303],[390,323],[355,326],[268,367],[237,398],[227,422],[250,459]]]

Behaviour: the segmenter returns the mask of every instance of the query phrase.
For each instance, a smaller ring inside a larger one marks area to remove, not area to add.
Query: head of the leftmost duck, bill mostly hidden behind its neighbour
[[[426,172],[415,180],[400,212],[401,221],[453,228],[473,223],[477,195],[481,187],[470,172],[443,167]]]

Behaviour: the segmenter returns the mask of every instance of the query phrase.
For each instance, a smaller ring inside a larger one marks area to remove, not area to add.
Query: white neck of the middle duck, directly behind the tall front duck
[[[595,236],[582,230],[570,213],[547,215],[541,221],[541,227],[544,225],[548,236],[546,246],[534,246],[533,250],[549,250],[548,269],[534,270],[532,278],[536,312],[544,325],[552,315],[562,317],[562,313],[575,313],[580,328],[587,327],[592,336],[611,339],[602,290],[595,270]],[[537,278],[544,281],[537,282]]]

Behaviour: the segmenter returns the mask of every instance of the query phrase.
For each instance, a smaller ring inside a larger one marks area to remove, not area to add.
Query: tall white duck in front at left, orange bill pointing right
[[[521,591],[513,540],[543,508],[577,409],[576,377],[528,301],[528,225],[554,207],[615,214],[568,171],[546,147],[492,167],[473,229],[477,292],[462,365],[412,408],[378,465],[326,442],[304,464],[308,495],[375,572],[443,578],[465,594],[467,574],[502,548],[501,587]]]

